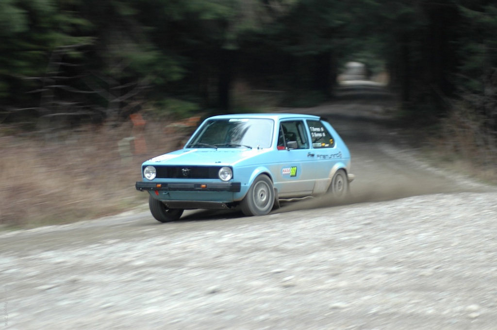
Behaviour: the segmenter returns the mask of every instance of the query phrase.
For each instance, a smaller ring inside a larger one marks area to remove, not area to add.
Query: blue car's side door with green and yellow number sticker
[[[315,165],[303,120],[279,123],[278,172],[275,187],[281,198],[308,196],[314,189]]]

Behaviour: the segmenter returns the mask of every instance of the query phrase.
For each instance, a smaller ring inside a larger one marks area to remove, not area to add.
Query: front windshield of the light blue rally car
[[[269,148],[271,119],[211,119],[186,148]]]

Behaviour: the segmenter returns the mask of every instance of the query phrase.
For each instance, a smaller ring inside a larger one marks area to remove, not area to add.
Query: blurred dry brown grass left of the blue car
[[[44,136],[1,136],[0,130],[0,225],[70,223],[145,203],[147,194],[135,189],[141,163],[176,149],[184,139],[181,133],[166,134],[164,127],[164,123],[147,123],[143,132],[147,151],[140,155],[133,141],[122,140],[133,134],[130,123],[117,129],[84,127],[56,141],[53,137],[45,141]],[[119,149],[120,141],[129,148]]]

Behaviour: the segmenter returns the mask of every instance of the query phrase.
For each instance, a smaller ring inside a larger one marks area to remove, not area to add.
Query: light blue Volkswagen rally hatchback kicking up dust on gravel
[[[150,211],[160,222],[185,209],[240,207],[268,214],[279,199],[348,191],[350,153],[325,119],[302,114],[230,114],[207,118],[183,149],[142,165]]]

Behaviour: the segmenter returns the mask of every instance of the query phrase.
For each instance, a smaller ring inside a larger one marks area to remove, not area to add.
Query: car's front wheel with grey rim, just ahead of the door
[[[240,208],[246,216],[260,216],[271,212],[273,206],[273,182],[267,175],[261,174],[255,178],[248,189],[247,195],[240,203]]]

